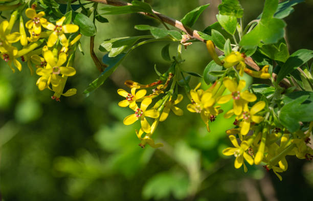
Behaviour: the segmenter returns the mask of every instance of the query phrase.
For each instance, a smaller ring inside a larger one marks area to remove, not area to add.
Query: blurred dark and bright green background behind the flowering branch
[[[204,30],[216,21],[220,1],[146,1],[153,9],[175,19],[199,5],[210,3],[195,29]],[[263,1],[242,0],[246,25],[262,11]],[[296,6],[285,18],[290,53],[313,49],[313,2]],[[161,26],[140,14],[107,16],[110,23],[98,24],[95,50],[104,39],[146,34],[133,26]],[[234,158],[221,150],[230,146],[225,130],[233,119],[220,117],[208,133],[199,115],[186,109],[188,100],[177,106],[183,117],[170,114],[159,124],[153,138],[164,147],[142,149],[135,129],[122,120],[131,114],[117,103],[117,94],[127,79],[151,83],[158,77],[153,66],[165,71],[170,63],[161,57],[166,42],[150,43],[133,51],[113,75],[91,96],[82,94],[99,72],[90,57],[89,38],[82,37],[85,55],[77,53],[77,74],[66,87],[78,94],[51,100],[48,90],[40,92],[37,75],[27,66],[13,74],[0,62],[0,191],[10,200],[313,200],[313,164],[287,157],[289,168],[280,182],[261,166],[248,166],[248,173],[235,169]],[[176,43],[171,43],[172,55]],[[205,45],[194,42],[183,51],[183,69],[202,74],[211,60]],[[194,87],[199,80],[192,78]],[[253,80],[248,80],[250,83]],[[184,93],[182,90],[181,93]],[[228,109],[230,105],[224,108]]]

